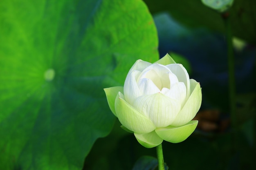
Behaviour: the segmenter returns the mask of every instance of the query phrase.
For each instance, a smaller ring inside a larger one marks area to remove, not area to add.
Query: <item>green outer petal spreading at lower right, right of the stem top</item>
[[[165,141],[179,143],[188,138],[193,133],[197,125],[198,120],[191,120],[184,126],[167,126],[165,128],[157,128],[155,132]]]

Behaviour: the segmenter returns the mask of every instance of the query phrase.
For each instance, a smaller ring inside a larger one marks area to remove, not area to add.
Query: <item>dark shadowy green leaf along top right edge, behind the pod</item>
[[[144,0],[152,13],[168,11],[178,22],[192,27],[207,27],[224,32],[221,14],[205,6],[201,0]],[[255,0],[234,0],[230,9],[230,20],[234,36],[256,44]]]

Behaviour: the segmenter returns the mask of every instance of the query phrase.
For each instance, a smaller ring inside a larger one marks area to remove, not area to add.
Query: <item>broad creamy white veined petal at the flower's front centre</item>
[[[180,110],[180,104],[177,100],[162,93],[138,97],[134,107],[148,117],[156,127],[170,125]]]

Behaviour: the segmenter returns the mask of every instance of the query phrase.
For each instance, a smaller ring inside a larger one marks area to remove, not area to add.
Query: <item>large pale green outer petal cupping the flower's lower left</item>
[[[148,133],[156,128],[150,119],[128,104],[120,92],[115,100],[115,110],[120,123],[132,132]]]

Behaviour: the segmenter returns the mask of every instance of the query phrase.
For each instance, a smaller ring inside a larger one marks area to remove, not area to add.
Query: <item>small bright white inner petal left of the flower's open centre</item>
[[[160,92],[159,88],[157,88],[157,86],[147,78],[139,79],[138,86],[141,91],[141,95],[152,95]]]

